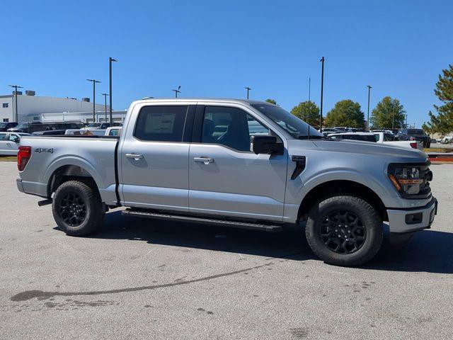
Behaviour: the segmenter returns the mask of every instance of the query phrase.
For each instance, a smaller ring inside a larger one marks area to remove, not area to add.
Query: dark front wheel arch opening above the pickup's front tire
[[[306,220],[310,208],[322,200],[333,195],[350,194],[362,198],[372,205],[383,221],[388,220],[386,208],[382,199],[371,188],[362,183],[349,180],[333,180],[318,184],[306,193],[299,205],[297,220]]]

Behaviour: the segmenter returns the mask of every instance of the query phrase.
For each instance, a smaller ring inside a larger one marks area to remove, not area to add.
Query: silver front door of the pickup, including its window
[[[253,115],[229,106],[197,111],[190,145],[189,211],[282,221],[287,175],[283,155],[250,152],[251,135],[269,130]],[[200,115],[203,118],[200,118]]]

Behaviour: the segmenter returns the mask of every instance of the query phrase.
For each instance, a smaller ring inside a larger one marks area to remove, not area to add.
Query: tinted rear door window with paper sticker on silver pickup
[[[150,142],[182,142],[188,106],[144,106],[134,137]]]

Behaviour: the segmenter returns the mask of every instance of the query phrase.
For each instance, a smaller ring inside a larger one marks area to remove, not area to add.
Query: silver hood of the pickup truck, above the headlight
[[[329,152],[369,154],[386,158],[397,158],[404,162],[426,162],[428,155],[418,149],[382,145],[357,140],[313,140],[314,145]]]

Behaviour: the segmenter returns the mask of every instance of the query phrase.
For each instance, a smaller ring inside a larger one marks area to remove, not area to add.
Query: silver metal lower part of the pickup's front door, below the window
[[[212,163],[195,162],[210,157]],[[189,211],[282,220],[287,154],[235,152],[222,145],[190,145]]]

